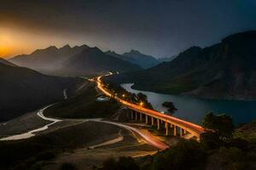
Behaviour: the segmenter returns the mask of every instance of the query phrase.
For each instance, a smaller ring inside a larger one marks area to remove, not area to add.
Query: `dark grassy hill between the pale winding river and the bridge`
[[[109,116],[119,109],[116,101],[97,101],[97,97],[95,82],[86,81],[73,97],[49,107],[44,114],[63,118],[95,118]]]

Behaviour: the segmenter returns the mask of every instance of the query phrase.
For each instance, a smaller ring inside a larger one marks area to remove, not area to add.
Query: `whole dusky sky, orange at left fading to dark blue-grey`
[[[157,58],[256,30],[255,0],[0,0],[0,57],[66,44]]]

